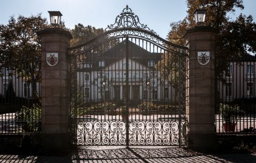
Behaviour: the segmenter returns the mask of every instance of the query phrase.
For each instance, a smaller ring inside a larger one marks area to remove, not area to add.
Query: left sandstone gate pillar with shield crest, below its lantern
[[[69,55],[72,35],[46,28],[41,38],[42,140],[46,148],[69,149]]]

